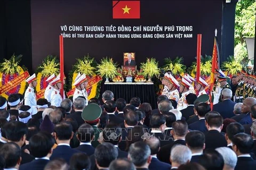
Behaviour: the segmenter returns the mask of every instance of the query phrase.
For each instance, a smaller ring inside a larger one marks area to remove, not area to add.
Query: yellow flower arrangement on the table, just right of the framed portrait
[[[140,64],[141,72],[140,74],[144,77],[148,77],[148,82],[152,82],[151,78],[155,75],[159,75],[160,69],[158,67],[158,62],[155,58],[147,58],[146,63]]]

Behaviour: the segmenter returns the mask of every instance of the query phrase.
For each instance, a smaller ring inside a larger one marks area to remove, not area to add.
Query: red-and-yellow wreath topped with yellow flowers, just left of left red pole
[[[44,91],[48,86],[49,82],[46,82],[46,79],[49,78],[53,73],[55,77],[60,72],[60,62],[56,56],[48,55],[43,63],[37,67],[36,77],[37,77],[37,86],[36,86],[36,97],[42,98],[44,97]]]

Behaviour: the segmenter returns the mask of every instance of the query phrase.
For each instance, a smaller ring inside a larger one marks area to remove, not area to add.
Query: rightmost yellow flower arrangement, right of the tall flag
[[[221,68],[225,69],[228,74],[236,75],[238,72],[242,70],[242,64],[235,60],[234,56],[229,56],[227,61],[221,64]]]

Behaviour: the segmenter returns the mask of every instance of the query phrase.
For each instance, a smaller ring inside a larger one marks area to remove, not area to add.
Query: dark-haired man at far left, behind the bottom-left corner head
[[[24,145],[26,141],[26,135],[28,134],[28,127],[22,122],[7,122],[5,125],[6,138],[16,143],[20,148]],[[26,164],[34,160],[34,157],[27,154],[26,152],[21,152],[21,164]]]

